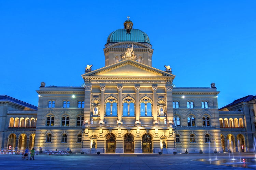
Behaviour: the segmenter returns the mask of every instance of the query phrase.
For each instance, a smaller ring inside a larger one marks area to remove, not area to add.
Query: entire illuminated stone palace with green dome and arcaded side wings
[[[169,65],[152,67],[153,51],[148,35],[133,29],[128,17],[106,37],[105,67],[87,65],[82,85],[41,82],[38,107],[0,95],[1,150],[253,151],[256,96],[219,109],[215,83],[176,87]]]

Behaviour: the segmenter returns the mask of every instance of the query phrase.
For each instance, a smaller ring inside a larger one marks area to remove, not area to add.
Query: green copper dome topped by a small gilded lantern
[[[150,44],[150,39],[145,32],[138,29],[132,29],[133,23],[131,20],[127,19],[124,23],[124,26],[124,29],[118,29],[109,34],[107,44],[124,41]]]

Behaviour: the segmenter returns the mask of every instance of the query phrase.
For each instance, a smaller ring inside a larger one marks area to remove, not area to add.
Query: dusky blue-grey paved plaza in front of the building
[[[254,153],[233,155],[218,153],[200,154],[70,154],[69,156],[35,155],[35,160],[22,160],[21,155],[0,155],[0,170],[5,169],[96,169],[96,170],[147,170],[147,169],[256,169]],[[241,160],[241,162],[240,162]]]

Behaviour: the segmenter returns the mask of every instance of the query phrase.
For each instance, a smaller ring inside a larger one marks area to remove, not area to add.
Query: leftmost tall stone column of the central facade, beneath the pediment
[[[91,110],[91,85],[84,86],[84,120],[90,123],[90,110]]]

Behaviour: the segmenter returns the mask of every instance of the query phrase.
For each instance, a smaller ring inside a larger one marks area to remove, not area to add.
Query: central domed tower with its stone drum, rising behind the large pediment
[[[124,28],[109,34],[105,48],[105,66],[131,59],[147,66],[152,66],[153,49],[147,34],[133,29],[133,22],[128,19]]]

